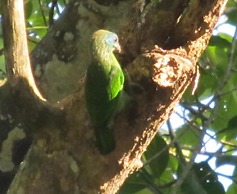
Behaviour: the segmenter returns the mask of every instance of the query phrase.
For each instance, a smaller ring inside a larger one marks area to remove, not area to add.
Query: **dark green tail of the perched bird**
[[[96,128],[96,146],[101,154],[106,155],[115,149],[115,137],[112,129],[109,128]]]

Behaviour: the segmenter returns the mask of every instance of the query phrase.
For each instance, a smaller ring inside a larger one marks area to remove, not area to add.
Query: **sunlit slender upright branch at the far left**
[[[20,90],[26,96],[30,91],[34,98],[45,101],[35,84],[31,71],[23,5],[23,0],[4,0],[2,3],[7,78],[14,91]],[[23,85],[20,84],[22,81]]]

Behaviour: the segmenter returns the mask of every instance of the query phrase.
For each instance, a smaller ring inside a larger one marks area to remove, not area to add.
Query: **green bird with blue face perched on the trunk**
[[[85,96],[96,145],[103,155],[115,149],[111,128],[113,119],[129,99],[124,91],[124,73],[114,50],[121,50],[115,33],[98,30],[93,34],[92,62],[86,73]]]

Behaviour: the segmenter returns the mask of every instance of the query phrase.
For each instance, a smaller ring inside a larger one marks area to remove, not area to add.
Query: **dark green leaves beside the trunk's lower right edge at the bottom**
[[[164,182],[162,175],[167,170],[168,162],[167,144],[161,136],[157,135],[144,153],[143,168],[127,179],[120,193],[151,193],[150,191],[159,193],[158,183]]]

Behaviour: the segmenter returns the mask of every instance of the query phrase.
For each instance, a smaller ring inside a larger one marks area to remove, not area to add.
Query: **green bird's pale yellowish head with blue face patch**
[[[92,44],[94,49],[103,48],[107,52],[121,51],[117,34],[107,30],[97,30],[93,34]]]

